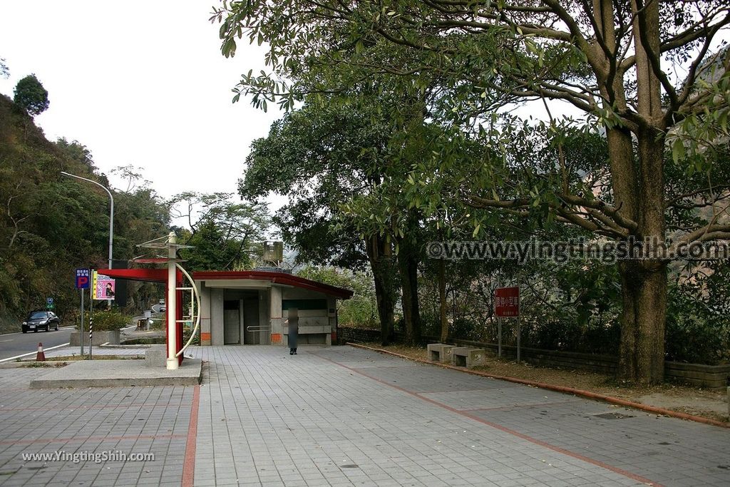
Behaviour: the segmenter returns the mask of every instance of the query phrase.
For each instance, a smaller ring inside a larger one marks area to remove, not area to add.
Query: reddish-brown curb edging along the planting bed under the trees
[[[664,409],[663,407],[650,406],[648,404],[641,404],[640,402],[631,402],[631,401],[627,401],[626,399],[618,399],[618,397],[604,396],[603,394],[596,394],[595,392],[583,391],[582,389],[575,389],[572,387],[565,387],[565,386],[555,386],[553,384],[535,382],[534,380],[517,379],[515,377],[507,377],[504,375],[494,375],[494,374],[490,374],[488,372],[482,372],[480,370],[471,370],[471,369],[464,369],[461,367],[454,367],[453,365],[441,364],[439,362],[424,360],[422,358],[414,358],[414,357],[401,355],[400,353],[391,352],[390,350],[383,350],[382,348],[366,347],[365,345],[360,345],[359,343],[347,343],[346,345],[350,345],[350,347],[354,347],[354,348],[363,348],[364,350],[371,350],[371,351],[377,352],[377,353],[385,353],[388,355],[405,358],[406,360],[420,362],[421,364],[437,365],[437,366],[443,367],[445,369],[458,370],[459,372],[466,372],[467,374],[481,375],[482,377],[491,377],[493,379],[499,379],[499,380],[507,380],[507,382],[525,384],[526,386],[535,386],[535,387],[539,387],[541,389],[548,389],[550,391],[563,392],[565,394],[575,394],[576,396],[587,397],[588,399],[596,399],[598,401],[610,402],[611,404],[619,404],[621,406],[633,407],[634,409],[646,411],[648,413],[655,413],[655,414],[660,414],[663,416],[670,416],[672,418],[685,419],[687,421],[696,421],[697,423],[711,424],[712,426],[721,426],[723,428],[730,428],[730,423],[725,423],[723,421],[715,421],[714,419],[710,419],[710,418],[702,418],[702,416],[695,416],[695,415],[691,415],[691,414],[687,414],[687,413],[679,413],[678,411]]]

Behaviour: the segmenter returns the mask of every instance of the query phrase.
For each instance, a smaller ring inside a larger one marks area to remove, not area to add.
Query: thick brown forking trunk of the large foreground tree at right
[[[599,1],[602,22],[599,28],[609,47],[614,46],[610,2]],[[615,206],[637,223],[632,237],[655,239],[664,244],[664,113],[661,85],[656,72],[659,53],[658,2],[639,4],[634,11],[633,34],[636,47],[637,116],[625,126],[607,127],[612,189]],[[652,61],[655,59],[655,62]],[[623,75],[604,78],[602,94],[607,106],[618,112],[628,110],[623,91]],[[609,90],[608,88],[612,88]],[[631,126],[631,131],[629,131]],[[634,155],[632,136],[637,142]],[[621,273],[623,312],[618,374],[637,383],[664,380],[664,327],[666,320],[666,263],[655,260],[623,261]]]

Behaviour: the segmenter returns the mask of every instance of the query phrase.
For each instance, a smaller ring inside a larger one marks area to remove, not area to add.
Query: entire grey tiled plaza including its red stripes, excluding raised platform
[[[729,429],[350,347],[193,354],[201,386],[31,390],[48,369],[0,369],[0,485],[730,485]],[[23,459],[107,450],[154,459]]]

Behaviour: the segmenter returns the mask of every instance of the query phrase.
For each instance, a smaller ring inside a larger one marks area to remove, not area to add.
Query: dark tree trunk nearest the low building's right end
[[[391,245],[377,236],[365,240],[365,248],[372,269],[380,318],[380,342],[389,345],[393,340],[393,309],[396,306],[396,283]]]

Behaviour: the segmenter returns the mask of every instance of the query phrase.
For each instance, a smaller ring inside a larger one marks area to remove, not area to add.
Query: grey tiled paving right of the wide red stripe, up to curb
[[[366,350],[299,350],[197,350],[210,369],[196,486],[730,484],[726,429]]]

